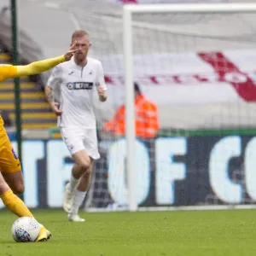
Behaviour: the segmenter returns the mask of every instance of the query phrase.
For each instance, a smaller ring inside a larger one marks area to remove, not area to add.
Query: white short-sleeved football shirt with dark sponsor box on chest
[[[58,126],[96,128],[93,93],[98,84],[107,90],[101,61],[87,58],[87,64],[80,67],[72,58],[53,68],[47,84],[60,88],[62,114]]]

